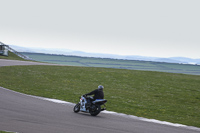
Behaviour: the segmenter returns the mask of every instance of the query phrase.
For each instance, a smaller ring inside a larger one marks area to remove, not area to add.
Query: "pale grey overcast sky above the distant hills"
[[[200,0],[0,0],[0,42],[200,58]]]

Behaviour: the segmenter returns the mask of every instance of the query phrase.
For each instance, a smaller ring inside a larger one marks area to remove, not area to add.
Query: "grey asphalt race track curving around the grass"
[[[0,66],[5,66],[5,64],[2,65],[3,62],[5,61],[0,59]],[[19,65],[19,62],[13,61],[13,65],[16,63]],[[8,64],[12,65],[12,61]],[[156,124],[109,113],[100,113],[92,117],[85,113],[74,113],[71,104],[55,103],[0,87],[0,131],[18,133],[199,133],[200,129]]]

